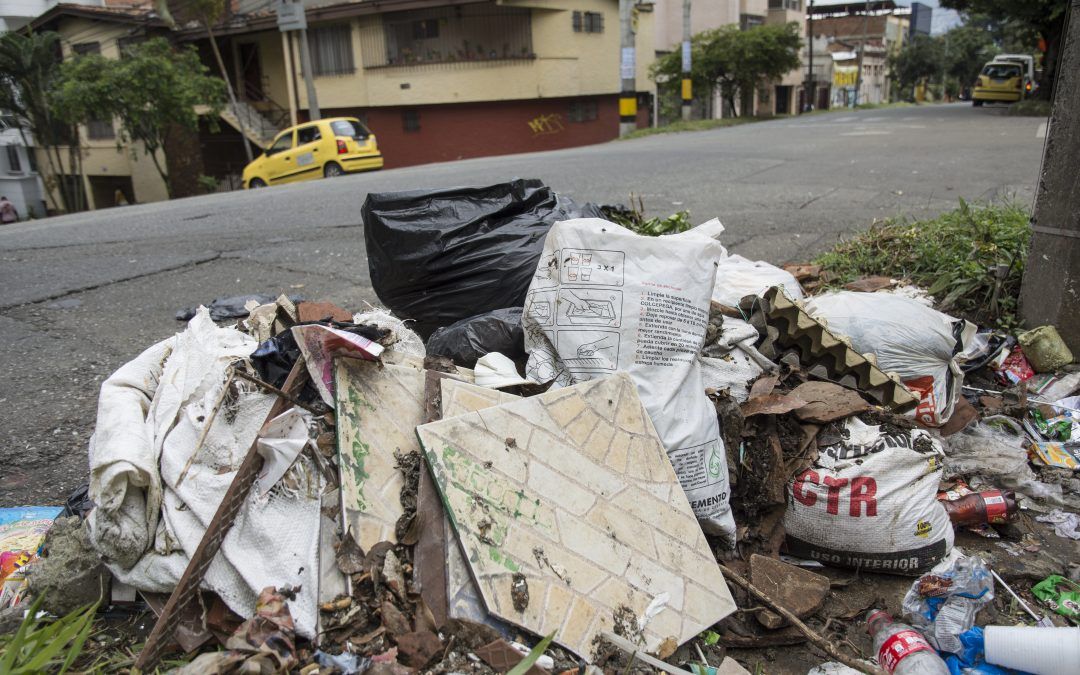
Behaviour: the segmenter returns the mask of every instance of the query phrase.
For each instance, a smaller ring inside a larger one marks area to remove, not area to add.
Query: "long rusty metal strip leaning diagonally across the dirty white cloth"
[[[303,364],[303,359],[298,359],[293,365],[293,369],[289,372],[288,378],[285,380],[282,389],[285,392],[298,391],[307,381],[307,377],[308,368]],[[288,402],[284,399],[279,397],[274,401],[274,404],[270,407],[270,413],[267,414],[267,418],[262,422],[264,427],[270,420],[284,413],[287,407]],[[138,659],[135,661],[137,670],[148,671],[158,664],[165,647],[172,642],[174,631],[183,622],[186,616],[186,608],[190,603],[195,600],[195,596],[199,594],[199,586],[206,576],[206,569],[214,562],[214,556],[217,555],[218,550],[221,548],[221,541],[225,540],[226,535],[232,528],[232,523],[237,519],[237,514],[247,500],[247,495],[251,492],[252,486],[255,485],[255,478],[258,476],[259,470],[262,469],[262,456],[258,453],[258,436],[261,433],[262,430],[260,429],[259,433],[255,435],[255,440],[252,441],[251,447],[247,448],[247,455],[240,464],[237,475],[232,478],[229,489],[226,490],[225,497],[221,498],[221,503],[218,505],[214,517],[210,522],[210,526],[206,527],[206,531],[199,542],[199,548],[195,549],[194,555],[191,556],[187,569],[184,570],[184,575],[180,577],[180,581],[173,589],[172,595],[168,596],[168,602],[165,603],[164,609],[161,610],[158,622],[153,624],[153,630],[146,640],[146,646],[143,647],[143,651],[139,652]]]

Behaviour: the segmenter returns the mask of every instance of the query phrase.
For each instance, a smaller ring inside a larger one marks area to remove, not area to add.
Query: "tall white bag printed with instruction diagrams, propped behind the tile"
[[[733,542],[724,442],[697,359],[723,251],[702,230],[642,237],[598,218],[557,222],[522,325],[526,376],[538,382],[634,378],[702,528]]]

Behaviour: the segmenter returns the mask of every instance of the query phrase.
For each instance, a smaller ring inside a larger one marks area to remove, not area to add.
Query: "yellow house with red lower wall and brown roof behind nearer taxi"
[[[239,100],[222,111],[225,124],[205,120],[198,138],[166,148],[170,163],[188,174],[235,185],[246,162],[245,138],[258,152],[278,131],[309,118],[298,36],[279,31],[270,6],[266,0],[233,2],[214,30]],[[93,41],[103,55],[117,56],[124,40],[167,33],[194,44],[218,72],[205,29],[176,12],[179,29],[172,32],[145,4],[87,14],[87,8],[60,4],[35,25],[58,31],[65,55]],[[363,120],[387,167],[618,136],[619,0],[353,0],[312,3],[306,15],[322,117]],[[652,17],[651,3],[635,6],[640,125],[648,124],[652,105]],[[103,124],[97,131],[108,130]],[[117,150],[114,139],[83,133],[92,204],[111,204],[107,198],[117,189],[130,201],[165,198],[139,148]]]

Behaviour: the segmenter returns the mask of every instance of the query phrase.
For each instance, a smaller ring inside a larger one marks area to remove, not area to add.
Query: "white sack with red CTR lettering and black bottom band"
[[[937,501],[944,454],[924,430],[865,424],[821,448],[787,484],[784,529],[792,555],[839,567],[918,575],[953,549]]]

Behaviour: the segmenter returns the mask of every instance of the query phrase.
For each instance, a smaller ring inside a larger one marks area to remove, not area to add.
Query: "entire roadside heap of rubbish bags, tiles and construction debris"
[[[1078,672],[1052,326],[600,213],[373,194],[386,309],[185,314],[102,387],[77,517],[0,510],[3,606],[100,588],[191,674]]]

